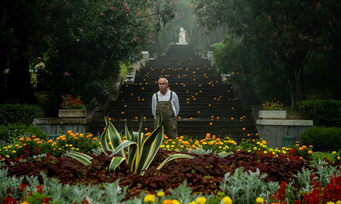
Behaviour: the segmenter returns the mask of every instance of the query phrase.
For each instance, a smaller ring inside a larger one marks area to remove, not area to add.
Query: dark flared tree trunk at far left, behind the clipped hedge
[[[19,97],[20,104],[38,104],[38,99],[34,96],[31,85],[29,60],[27,58],[21,57],[18,61],[11,63],[8,73],[6,97]]]

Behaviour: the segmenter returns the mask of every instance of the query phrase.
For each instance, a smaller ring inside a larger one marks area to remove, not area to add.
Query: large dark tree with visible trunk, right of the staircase
[[[258,1],[258,0],[192,0],[199,25],[206,33],[227,26],[232,37],[242,45],[256,40],[276,54],[274,63],[286,73],[292,107],[305,100],[303,67],[314,49],[326,46],[324,33],[332,32],[337,15],[329,11],[337,0]],[[317,23],[318,22],[318,23]],[[328,48],[326,48],[328,49]]]

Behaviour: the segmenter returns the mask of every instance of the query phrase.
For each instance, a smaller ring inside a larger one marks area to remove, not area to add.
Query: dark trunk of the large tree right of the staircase
[[[284,62],[289,91],[291,96],[291,108],[297,107],[298,101],[306,100],[303,67],[306,62],[308,51],[300,53],[282,53],[280,58]]]

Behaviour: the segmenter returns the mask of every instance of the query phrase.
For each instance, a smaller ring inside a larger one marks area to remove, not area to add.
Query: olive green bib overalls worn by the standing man
[[[178,124],[176,123],[175,113],[170,102],[173,97],[173,91],[170,91],[170,98],[168,101],[159,101],[158,92],[156,95],[156,120],[154,123],[154,128],[158,127],[159,121],[159,108],[161,110],[161,115],[164,117],[163,122],[163,134],[169,139],[175,139],[178,137]]]

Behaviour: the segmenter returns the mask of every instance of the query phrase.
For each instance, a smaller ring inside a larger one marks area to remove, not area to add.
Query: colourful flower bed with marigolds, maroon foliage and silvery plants
[[[128,165],[109,172],[107,167],[111,158],[98,154],[100,144],[92,134],[69,131],[56,142],[25,136],[19,135],[13,138],[13,143],[0,146],[2,163],[14,163],[5,167],[8,170],[0,170],[6,171],[0,173],[4,181],[0,187],[3,190],[1,203],[11,199],[23,203],[164,204],[257,203],[262,199],[262,203],[337,203],[341,200],[340,152],[333,152],[328,158],[323,155],[322,161],[312,152],[312,147],[299,144],[279,150],[267,147],[264,140],[243,140],[237,144],[229,137],[217,138],[210,134],[201,140],[165,137],[149,168],[144,175],[138,175],[130,172]],[[124,135],[121,137],[126,139]],[[15,153],[14,148],[18,150]],[[94,159],[84,166],[70,157],[60,157],[59,148],[89,153]],[[192,155],[194,159],[172,160],[162,169],[156,169],[166,157],[176,152]],[[208,152],[214,154],[204,154]],[[8,158],[2,156],[3,153],[11,155]],[[46,156],[30,159],[40,153]],[[20,159],[30,160],[19,162]],[[20,177],[23,175],[30,177]],[[58,185],[59,182],[64,185]],[[65,187],[65,184],[68,185]],[[56,185],[60,188],[58,195],[53,189]],[[20,186],[25,189],[20,191]],[[64,187],[68,192],[76,192],[72,196],[61,193],[66,192]],[[113,195],[116,195],[116,201],[108,200],[114,199]]]

